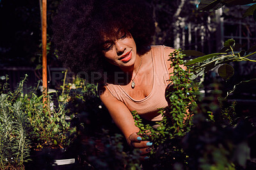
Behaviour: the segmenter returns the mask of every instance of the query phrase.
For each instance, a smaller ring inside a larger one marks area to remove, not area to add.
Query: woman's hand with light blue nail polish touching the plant
[[[127,138],[127,143],[132,148],[140,149],[141,155],[143,159],[147,159],[147,153],[152,150],[153,143],[150,141],[142,141],[141,137],[136,134],[136,132],[132,133],[129,138]]]

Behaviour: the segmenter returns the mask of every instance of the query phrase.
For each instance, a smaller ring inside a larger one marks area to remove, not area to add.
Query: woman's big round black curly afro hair
[[[131,33],[139,55],[148,52],[155,25],[144,1],[63,0],[52,25],[53,42],[63,66],[74,73],[102,75],[109,67],[102,55],[102,32],[113,37],[120,28]]]

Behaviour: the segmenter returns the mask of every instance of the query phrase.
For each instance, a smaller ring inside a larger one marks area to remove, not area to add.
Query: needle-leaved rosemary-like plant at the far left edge
[[[22,88],[25,78],[14,92],[3,84],[0,95],[0,168],[24,169],[29,160],[30,144],[28,138],[29,122],[24,111],[26,104]],[[8,76],[6,76],[6,82]]]

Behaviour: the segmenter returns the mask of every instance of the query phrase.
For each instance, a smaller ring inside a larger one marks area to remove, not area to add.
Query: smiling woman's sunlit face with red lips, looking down
[[[136,44],[130,32],[118,30],[116,38],[104,38],[103,54],[109,63],[125,69],[134,65]]]

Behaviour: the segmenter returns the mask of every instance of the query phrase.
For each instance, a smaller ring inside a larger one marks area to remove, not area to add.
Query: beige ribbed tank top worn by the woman
[[[160,121],[162,115],[159,108],[168,106],[164,92],[168,85],[169,74],[165,62],[164,48],[170,48],[162,45],[151,46],[153,60],[153,87],[150,94],[141,100],[132,99],[129,94],[120,85],[106,84],[109,92],[119,101],[122,101],[130,111],[136,110],[138,114],[149,121]]]

